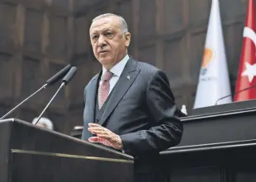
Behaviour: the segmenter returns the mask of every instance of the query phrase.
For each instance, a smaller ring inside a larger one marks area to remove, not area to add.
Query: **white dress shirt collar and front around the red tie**
[[[110,84],[109,93],[111,93],[111,91],[113,90],[114,86],[116,86],[116,82],[119,80],[119,78],[121,76],[121,73],[123,72],[124,68],[126,67],[126,63],[128,62],[128,60],[129,60],[129,55],[126,54],[125,58],[123,58],[121,60],[121,62],[117,63],[114,67],[111,68],[111,70],[109,70],[110,72],[113,73],[113,76],[109,80],[109,84]],[[107,72],[107,69],[102,67],[101,81],[102,81],[102,78],[103,78],[103,75],[104,75],[105,72]]]

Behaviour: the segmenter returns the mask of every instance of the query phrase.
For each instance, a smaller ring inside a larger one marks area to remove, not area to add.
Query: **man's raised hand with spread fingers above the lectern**
[[[108,147],[114,147],[118,150],[122,149],[122,142],[119,135],[116,133],[111,132],[109,129],[102,127],[99,124],[88,124],[89,125],[89,132],[92,134],[97,135],[97,137],[89,138],[89,142],[100,142],[103,145]]]

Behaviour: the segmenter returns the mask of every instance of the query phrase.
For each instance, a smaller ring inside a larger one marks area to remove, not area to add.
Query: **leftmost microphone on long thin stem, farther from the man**
[[[45,85],[41,86],[40,89],[38,89],[37,91],[35,91],[34,93],[31,94],[31,96],[28,96],[25,100],[22,100],[18,105],[16,105],[14,108],[12,108],[12,110],[10,110],[9,112],[7,112],[7,114],[4,114],[0,120],[5,119],[9,114],[12,114],[12,112],[14,110],[16,110],[20,105],[22,105],[24,102],[26,102],[26,100],[29,100],[32,96],[35,96],[39,91],[43,90],[46,88],[46,86],[52,86],[53,84],[55,84],[55,82],[58,82],[59,79],[61,77],[64,77],[64,75],[69,72],[69,69],[71,68],[70,64],[68,66],[66,66],[65,68],[63,68],[62,70],[60,70],[59,72],[57,72],[53,77],[50,77],[49,80],[46,81]]]

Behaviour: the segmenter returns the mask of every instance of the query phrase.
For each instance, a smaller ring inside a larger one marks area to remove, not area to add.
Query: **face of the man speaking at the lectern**
[[[127,54],[130,33],[122,32],[117,16],[107,16],[92,22],[90,40],[94,56],[110,69]]]

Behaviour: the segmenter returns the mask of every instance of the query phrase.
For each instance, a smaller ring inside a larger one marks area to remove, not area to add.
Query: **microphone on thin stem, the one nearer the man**
[[[62,79],[61,81],[61,85],[59,86],[59,89],[55,92],[55,95],[52,96],[52,98],[50,99],[50,101],[48,102],[48,104],[45,106],[45,109],[40,113],[39,117],[36,120],[35,125],[38,123],[38,121],[40,120],[40,118],[42,117],[42,115],[45,113],[45,110],[47,110],[47,108],[49,107],[50,103],[55,99],[55,96],[57,96],[57,94],[59,93],[59,91],[62,89],[63,86],[68,85],[68,83],[70,82],[70,80],[73,78],[73,76],[75,75],[75,73],[77,72],[77,68],[76,67],[72,67],[69,72],[66,74],[66,76]]]

